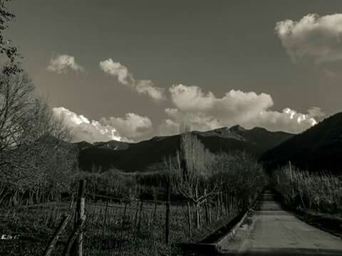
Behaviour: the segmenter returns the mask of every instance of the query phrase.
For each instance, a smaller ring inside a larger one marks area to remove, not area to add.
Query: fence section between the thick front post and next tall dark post
[[[165,209],[162,201],[86,203],[84,255],[149,255],[165,242]]]

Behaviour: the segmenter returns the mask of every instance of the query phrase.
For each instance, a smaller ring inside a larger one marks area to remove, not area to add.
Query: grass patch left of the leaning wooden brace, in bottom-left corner
[[[48,240],[63,214],[68,212],[68,207],[66,203],[46,203],[30,207],[0,208],[1,235],[20,235],[19,240],[0,240],[1,253],[9,256],[43,255]],[[65,242],[70,232],[71,228],[68,228],[60,240]],[[53,255],[58,255],[63,250],[62,245],[58,242]]]

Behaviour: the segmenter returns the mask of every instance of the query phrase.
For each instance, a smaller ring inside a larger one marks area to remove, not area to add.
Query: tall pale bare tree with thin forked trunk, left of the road
[[[165,159],[172,190],[195,204],[197,228],[199,206],[219,192],[222,185],[219,173],[211,168],[213,159],[214,155],[191,132],[181,134],[180,150]]]

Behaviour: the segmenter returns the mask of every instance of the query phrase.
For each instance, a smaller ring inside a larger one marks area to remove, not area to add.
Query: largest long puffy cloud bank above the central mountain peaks
[[[173,85],[170,94],[175,107],[165,110],[167,119],[160,125],[161,134],[177,133],[180,124],[199,131],[240,124],[247,129],[264,127],[298,133],[316,124],[316,118],[324,115],[318,107],[309,109],[306,114],[290,108],[281,112],[271,110],[274,102],[271,95],[265,93],[230,90],[223,97],[216,97],[197,86]]]

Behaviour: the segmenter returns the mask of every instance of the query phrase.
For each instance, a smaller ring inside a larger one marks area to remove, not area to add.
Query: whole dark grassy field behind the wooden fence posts
[[[165,245],[165,205],[162,203],[86,203],[84,255],[171,255],[175,247]],[[4,255],[42,255],[63,213],[72,213],[70,203],[48,203],[31,207],[1,209],[1,232],[19,234],[19,240],[1,240]],[[212,206],[212,223],[206,223],[202,208],[202,228],[195,229],[195,209],[191,210],[192,235],[188,232],[187,206],[172,205],[170,241],[195,242],[204,239],[237,215],[237,206],[217,218]],[[141,217],[140,217],[141,216]],[[71,233],[66,228],[53,255],[60,255]]]

